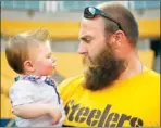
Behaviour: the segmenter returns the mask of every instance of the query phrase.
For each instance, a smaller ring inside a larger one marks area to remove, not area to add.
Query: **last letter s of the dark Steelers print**
[[[144,121],[140,118],[133,117],[129,121],[132,127],[140,127],[144,126]]]

